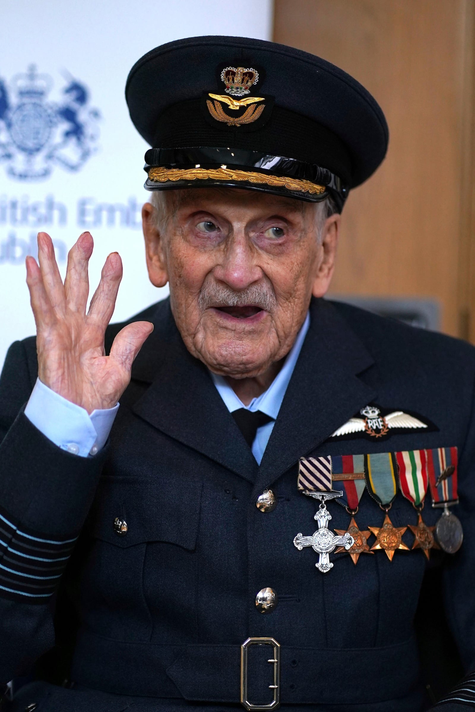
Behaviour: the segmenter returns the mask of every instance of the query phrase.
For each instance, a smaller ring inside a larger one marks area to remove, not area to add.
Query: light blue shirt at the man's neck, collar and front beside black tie
[[[283,367],[273,379],[273,382],[268,389],[261,393],[259,398],[253,398],[249,405],[244,405],[223,376],[216,376],[216,374],[212,373],[214,385],[218,389],[219,395],[224,400],[224,404],[230,413],[235,410],[239,410],[239,408],[246,408],[246,410],[250,410],[252,413],[256,412],[256,410],[260,410],[262,413],[265,413],[273,418],[270,423],[266,423],[257,429],[256,437],[254,438],[254,442],[252,444],[252,454],[258,461],[259,465],[261,464],[262,456],[264,454],[264,450],[266,449],[268,440],[271,437],[276,417],[281,409],[283,397],[286,394],[288,383],[292,377],[293,369],[295,368],[298,355],[301,352],[302,344],[307,335],[309,326],[310,314],[307,313],[305,321],[301,326],[301,330],[298,332],[297,338],[293,343],[293,347],[288,352]]]

